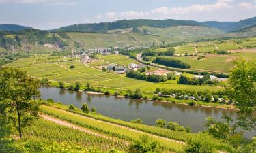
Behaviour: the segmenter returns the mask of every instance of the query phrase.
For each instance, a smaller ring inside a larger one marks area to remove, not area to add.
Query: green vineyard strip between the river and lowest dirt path
[[[67,112],[68,107],[60,104],[54,104],[52,107],[44,105],[41,107],[41,110],[44,114],[130,142],[138,140],[139,137],[147,133],[152,136],[152,139],[158,141],[162,148],[173,152],[182,152],[184,143],[188,139],[197,137],[195,133],[171,131],[145,124],[134,124],[99,114],[84,114],[79,109],[75,112]],[[213,148],[218,148],[218,150],[232,150],[228,144],[222,143],[221,141],[212,138],[210,138],[210,141]]]

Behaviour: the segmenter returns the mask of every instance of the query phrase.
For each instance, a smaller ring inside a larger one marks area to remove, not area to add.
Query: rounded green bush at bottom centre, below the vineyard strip
[[[134,142],[129,150],[129,153],[158,153],[161,152],[156,141],[148,135],[143,135],[139,141]]]

